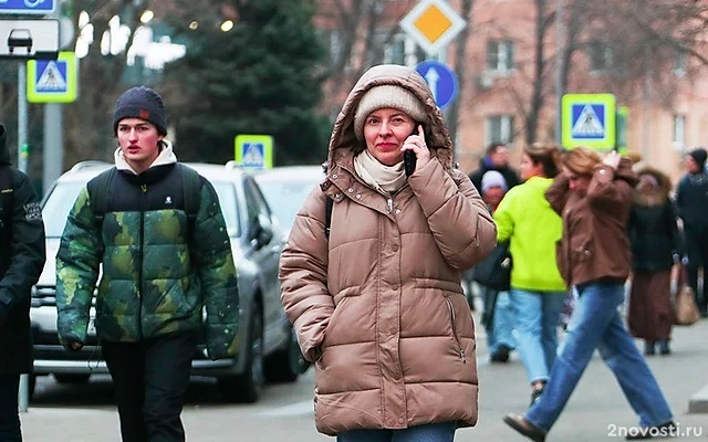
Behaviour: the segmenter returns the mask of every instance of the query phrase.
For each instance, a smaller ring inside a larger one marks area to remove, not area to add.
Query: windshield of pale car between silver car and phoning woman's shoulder
[[[270,179],[258,180],[258,177],[256,179],[266,200],[268,200],[268,206],[275,213],[280,224],[287,229],[292,227],[298,211],[305,202],[305,198],[322,180],[321,177],[317,180],[291,178],[277,181]]]

